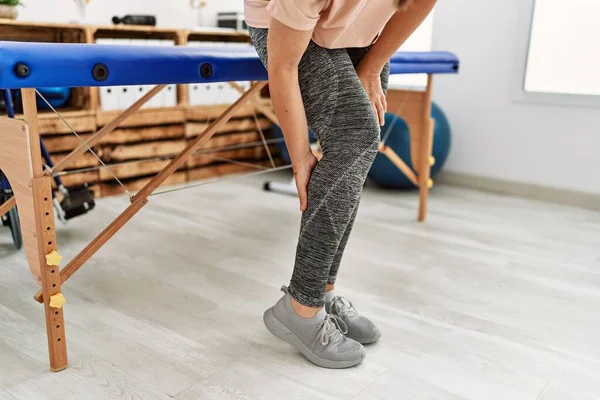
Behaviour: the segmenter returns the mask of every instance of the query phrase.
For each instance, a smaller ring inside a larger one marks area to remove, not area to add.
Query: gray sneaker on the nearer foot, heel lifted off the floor
[[[362,362],[365,348],[344,336],[347,327],[341,319],[328,315],[324,309],[313,318],[302,318],[292,308],[287,287],[281,290],[285,295],[263,316],[269,332],[319,367],[349,368]]]

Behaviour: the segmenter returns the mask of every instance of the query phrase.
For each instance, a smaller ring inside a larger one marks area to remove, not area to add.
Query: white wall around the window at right
[[[433,48],[461,59],[434,86],[454,134],[446,169],[600,194],[600,109],[512,100],[521,2],[438,2]]]

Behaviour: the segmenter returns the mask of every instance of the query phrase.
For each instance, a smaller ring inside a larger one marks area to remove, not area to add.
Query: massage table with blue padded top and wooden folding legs
[[[390,60],[392,74],[427,74],[429,77],[425,91],[407,93],[406,104],[411,111],[403,115],[411,130],[411,157],[416,171],[410,169],[391,148],[385,144],[380,147],[380,151],[419,187],[421,221],[425,218],[426,199],[431,187],[431,79],[434,74],[457,73],[458,66],[457,57],[447,52],[399,52]],[[0,41],[0,89],[21,89],[24,111],[24,120],[0,117],[0,170],[10,181],[14,192],[12,201],[0,205],[0,215],[16,203],[25,254],[34,279],[41,288],[34,297],[44,304],[51,370],[60,371],[68,364],[63,316],[65,299],[61,285],[147,204],[148,197],[207,143],[238,107],[252,102],[256,109],[276,122],[272,110],[258,99],[266,80],[265,68],[249,45],[170,48]],[[165,85],[230,82],[234,86],[232,82],[236,81],[252,81],[252,85],[245,92],[238,86],[238,90],[243,92],[240,98],[141,190],[130,194],[130,205],[60,269],[62,260],[56,247],[52,176],[91,149]],[[36,88],[127,85],[157,86],[56,163],[52,171],[43,170]]]

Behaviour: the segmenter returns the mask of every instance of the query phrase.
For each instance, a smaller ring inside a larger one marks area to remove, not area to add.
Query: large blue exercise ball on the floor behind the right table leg
[[[435,177],[444,167],[450,152],[451,130],[448,118],[442,109],[435,103],[431,107],[431,117],[435,120],[433,133],[433,151],[435,164],[431,167],[431,177]],[[390,128],[391,127],[391,128]],[[410,157],[410,135],[408,125],[399,116],[386,113],[385,125],[381,128],[382,139],[391,129],[386,145],[390,146],[398,157],[413,171]],[[386,155],[378,153],[375,162],[369,171],[369,177],[379,186],[390,189],[413,189],[415,185],[400,171]]]

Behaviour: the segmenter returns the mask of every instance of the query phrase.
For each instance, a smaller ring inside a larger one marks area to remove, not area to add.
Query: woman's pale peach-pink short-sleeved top
[[[271,17],[335,49],[366,47],[397,11],[394,0],[244,0],[246,24],[268,28]]]

